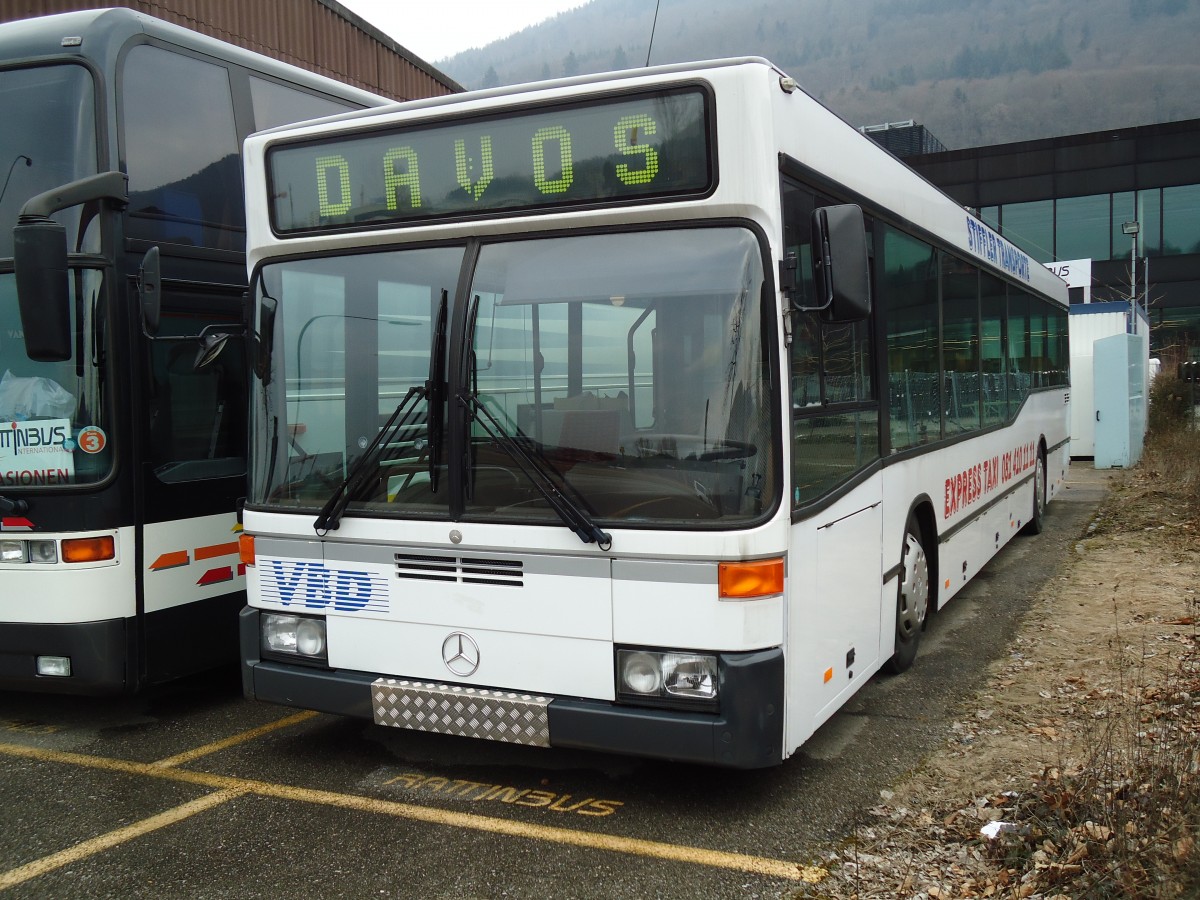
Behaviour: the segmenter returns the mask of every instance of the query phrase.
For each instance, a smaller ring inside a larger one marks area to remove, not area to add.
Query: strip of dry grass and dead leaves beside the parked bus
[[[1038,599],[1019,661],[797,896],[1200,898],[1198,590],[1200,433],[1159,428]]]

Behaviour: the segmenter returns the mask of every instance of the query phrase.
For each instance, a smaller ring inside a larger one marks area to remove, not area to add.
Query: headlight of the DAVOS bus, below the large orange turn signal
[[[617,650],[617,696],[650,706],[713,708],[716,656],[686,650]]]

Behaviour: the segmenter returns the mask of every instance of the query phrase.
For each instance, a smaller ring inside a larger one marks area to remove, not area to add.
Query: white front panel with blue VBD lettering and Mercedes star
[[[784,640],[781,596],[718,598],[715,560],[743,558],[746,546],[769,540],[763,534],[757,541],[754,533],[740,535],[743,547],[734,550],[726,546],[730,535],[613,529],[614,548],[649,551],[649,558],[636,558],[594,545],[581,553],[565,527],[460,526],[475,539],[469,545],[466,538],[430,545],[416,544],[431,536],[427,523],[347,518],[336,542],[322,542],[305,534],[288,539],[271,527],[311,528],[306,516],[247,510],[245,518],[258,535],[256,565],[247,569],[251,606],[326,614],[329,664],[338,668],[612,700],[614,643],[740,652]],[[392,540],[347,541],[380,527]],[[515,553],[496,545],[514,532],[527,545],[558,544],[560,552]],[[709,562],[679,559],[685,547],[728,552]],[[422,572],[421,564],[448,568]],[[490,574],[502,564],[520,575]],[[479,644],[480,667],[472,676],[446,670],[442,646],[454,631]]]

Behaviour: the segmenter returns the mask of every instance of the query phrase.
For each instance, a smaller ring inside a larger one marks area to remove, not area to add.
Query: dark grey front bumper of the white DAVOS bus
[[[240,623],[242,689],[247,697],[401,727],[418,727],[412,722],[390,721],[376,714],[373,692],[386,679],[367,672],[263,660],[259,656],[259,611],[244,608]],[[630,754],[730,768],[778,766],[782,761],[784,748],[782,650],[774,648],[721,654],[719,659],[719,714],[548,697],[544,709],[547,734],[545,743],[553,748]],[[432,690],[434,686],[419,688]],[[464,692],[473,698],[487,694],[448,685],[437,688],[443,692]],[[439,733],[466,733],[440,725],[420,727]],[[475,736],[484,737],[482,733]],[[498,733],[488,733],[487,737],[508,739],[499,738]]]

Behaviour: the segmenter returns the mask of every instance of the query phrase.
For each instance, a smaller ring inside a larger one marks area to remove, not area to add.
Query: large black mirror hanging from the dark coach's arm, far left
[[[12,239],[25,355],[37,362],[68,360],[72,348],[66,228],[53,218],[30,218],[12,229]]]

